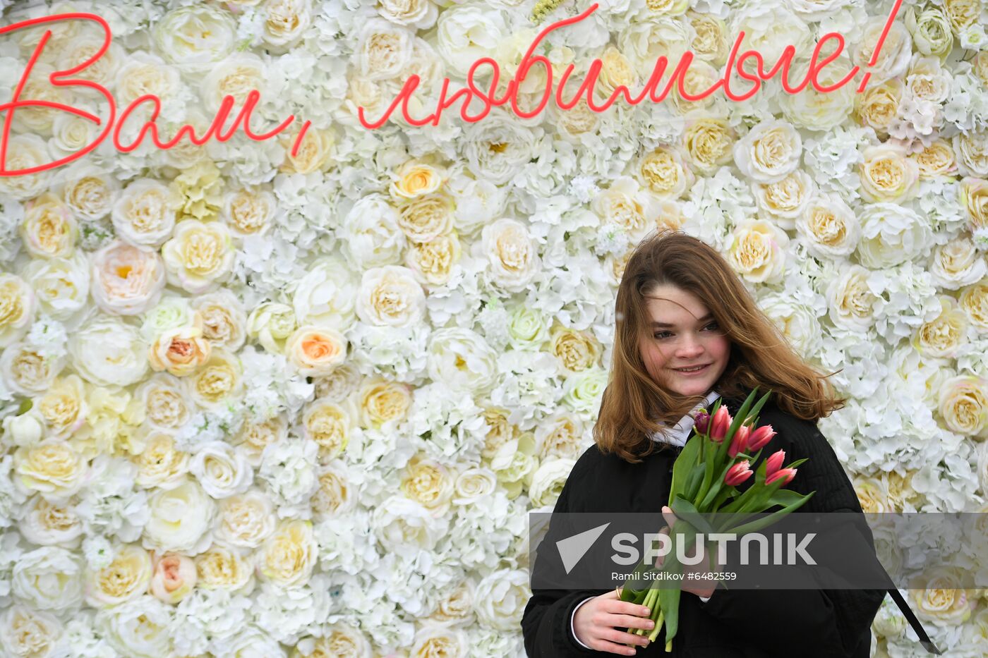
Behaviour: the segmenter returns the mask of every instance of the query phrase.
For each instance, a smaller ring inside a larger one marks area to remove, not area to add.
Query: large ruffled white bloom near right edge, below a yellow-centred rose
[[[870,204],[858,215],[862,238],[858,256],[873,270],[914,260],[930,248],[933,230],[929,219],[898,204]]]

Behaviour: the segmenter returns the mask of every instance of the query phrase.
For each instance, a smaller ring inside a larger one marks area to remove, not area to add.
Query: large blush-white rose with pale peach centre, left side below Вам
[[[137,315],[158,303],[165,289],[165,263],[150,247],[114,240],[92,256],[93,300],[107,313]]]

